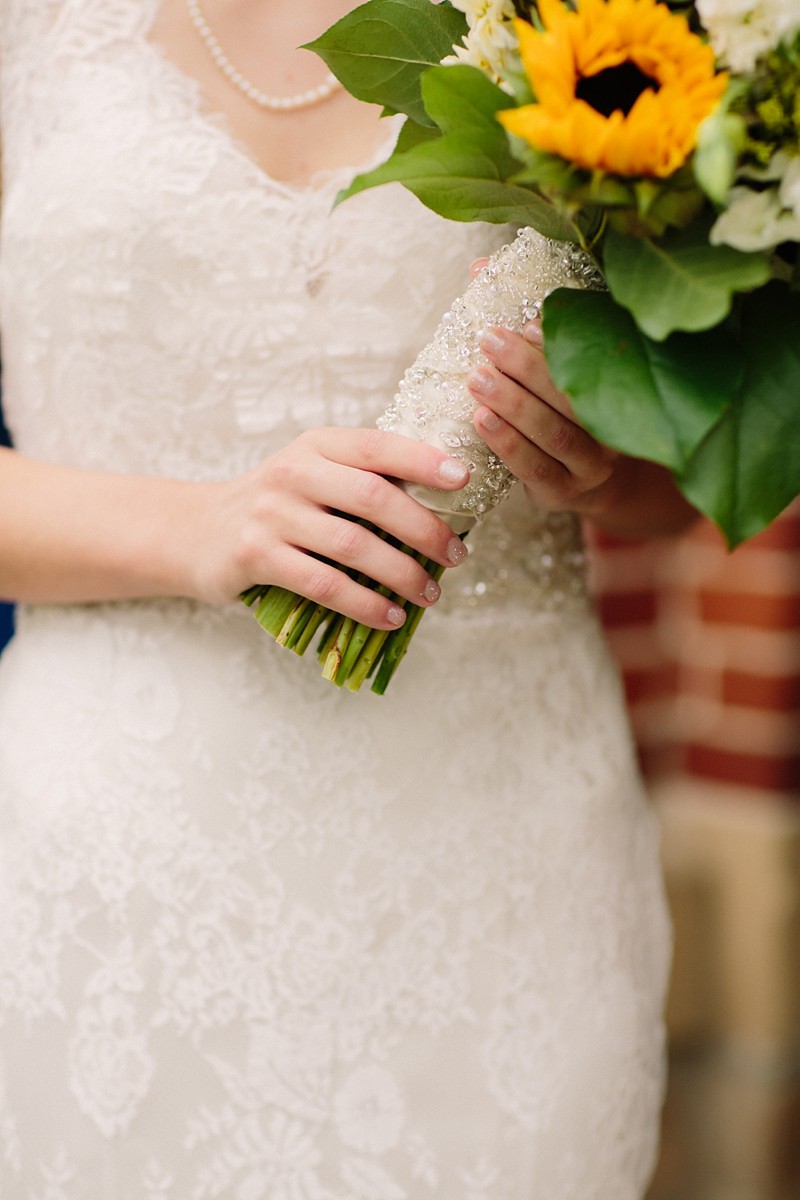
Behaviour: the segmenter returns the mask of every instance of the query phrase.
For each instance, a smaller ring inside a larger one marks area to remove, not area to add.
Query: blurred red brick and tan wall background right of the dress
[[[589,550],[675,929],[648,1200],[800,1200],[800,505],[730,554],[706,523]]]

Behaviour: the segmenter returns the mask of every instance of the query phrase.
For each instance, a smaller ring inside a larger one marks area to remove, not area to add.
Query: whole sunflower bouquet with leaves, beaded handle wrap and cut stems
[[[476,451],[462,392],[443,402],[452,326],[465,373],[481,323],[521,328],[540,307],[552,376],[582,424],[668,467],[730,547],[794,499],[796,0],[367,0],[308,48],[353,95],[405,116],[389,160],[339,199],[399,181],[451,220],[522,227],[379,422],[468,462],[470,520],[510,481]],[[515,288],[521,264],[548,258],[527,295]],[[378,691],[421,616],[387,635],[278,588],[245,599],[300,652],[325,623],[324,671],[339,684],[360,686],[384,660]]]

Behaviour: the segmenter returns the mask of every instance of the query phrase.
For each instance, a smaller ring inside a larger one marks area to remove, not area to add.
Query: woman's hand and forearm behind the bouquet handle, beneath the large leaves
[[[475,427],[531,500],[620,538],[679,533],[697,518],[668,470],[609,450],[577,424],[551,378],[537,323],[523,335],[489,329],[481,346],[493,365],[469,379]]]

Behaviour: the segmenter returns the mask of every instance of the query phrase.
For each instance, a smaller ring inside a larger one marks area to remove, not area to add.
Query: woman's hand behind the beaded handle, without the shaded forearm
[[[540,324],[522,334],[492,326],[481,349],[491,365],[476,367],[467,380],[479,403],[480,436],[540,508],[591,509],[620,455],[578,425],[551,378]]]

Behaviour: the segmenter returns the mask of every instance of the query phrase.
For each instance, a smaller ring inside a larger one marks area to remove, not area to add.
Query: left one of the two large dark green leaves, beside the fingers
[[[655,342],[604,292],[553,292],[543,330],[553,378],[590,433],[673,470],[686,464],[741,378],[727,329]]]

